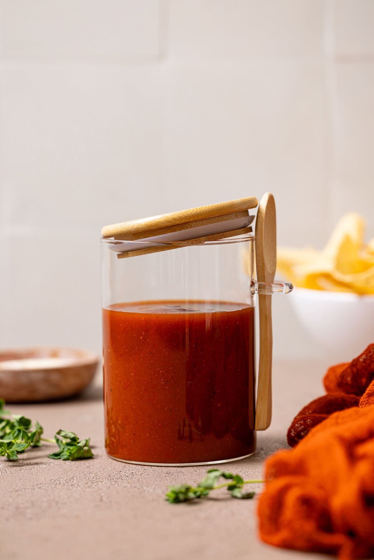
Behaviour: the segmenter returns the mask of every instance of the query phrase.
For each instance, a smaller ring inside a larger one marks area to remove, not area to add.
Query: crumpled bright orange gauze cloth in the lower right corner
[[[359,406],[354,403],[353,408],[322,418],[294,449],[266,461],[266,487],[258,501],[260,538],[265,543],[332,553],[341,560],[374,557],[371,347],[363,353],[370,358],[355,358],[350,369],[345,364],[335,371],[335,386],[343,379],[341,392],[342,385],[353,395],[367,387]]]

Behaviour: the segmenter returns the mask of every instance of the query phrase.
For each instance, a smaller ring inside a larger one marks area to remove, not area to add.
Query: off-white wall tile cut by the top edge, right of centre
[[[322,0],[171,0],[170,56],[321,57]]]

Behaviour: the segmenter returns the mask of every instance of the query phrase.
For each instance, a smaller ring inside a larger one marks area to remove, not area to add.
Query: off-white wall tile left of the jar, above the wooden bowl
[[[4,346],[100,349],[100,250],[93,230],[10,236]]]

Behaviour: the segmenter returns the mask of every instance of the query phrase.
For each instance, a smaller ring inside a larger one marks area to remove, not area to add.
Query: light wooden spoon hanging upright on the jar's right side
[[[273,194],[261,198],[256,218],[257,282],[274,281],[276,269],[276,214]],[[260,312],[260,363],[255,430],[266,430],[271,422],[271,360],[273,332],[271,328],[271,295],[258,296]]]

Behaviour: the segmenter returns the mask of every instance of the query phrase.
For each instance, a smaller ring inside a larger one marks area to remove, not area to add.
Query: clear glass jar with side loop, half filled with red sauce
[[[101,239],[105,448],[147,465],[251,455],[255,436],[252,234],[119,253]],[[131,251],[140,241],[126,241]]]

